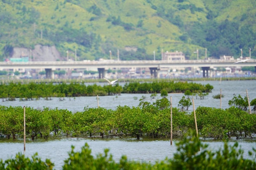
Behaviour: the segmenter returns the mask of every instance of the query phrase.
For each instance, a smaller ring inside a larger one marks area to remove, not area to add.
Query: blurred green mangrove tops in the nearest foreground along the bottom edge
[[[244,158],[244,151],[238,148],[238,143],[228,145],[224,141],[224,147],[216,151],[208,150],[208,145],[203,144],[195,133],[189,134],[191,137],[185,137],[176,143],[177,152],[172,159],[164,159],[155,162],[131,161],[125,155],[115,162],[113,156],[109,154],[109,149],[104,153],[98,153],[96,157],[92,156],[92,150],[85,143],[81,151],[75,152],[75,147],[71,146],[68,158],[64,160],[63,170],[68,169],[255,169],[256,161],[253,157],[256,150],[248,152],[249,158]],[[200,149],[202,151],[200,152]],[[0,169],[53,169],[54,164],[46,159],[42,161],[36,153],[32,159],[25,158],[24,154],[17,154],[15,158],[0,161]]]

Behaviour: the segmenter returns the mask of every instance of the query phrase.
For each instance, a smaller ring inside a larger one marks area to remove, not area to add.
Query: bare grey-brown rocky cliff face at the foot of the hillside
[[[35,49],[31,50],[28,48],[13,48],[13,55],[12,58],[20,58],[22,56],[29,58],[32,55],[32,61],[61,61],[63,60],[60,57],[60,52],[56,49],[55,46],[42,46],[36,45]]]

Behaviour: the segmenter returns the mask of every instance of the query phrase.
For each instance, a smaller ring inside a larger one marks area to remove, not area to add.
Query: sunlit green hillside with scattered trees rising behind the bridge
[[[14,47],[56,46],[65,60],[256,55],[255,0],[1,0],[0,58]]]

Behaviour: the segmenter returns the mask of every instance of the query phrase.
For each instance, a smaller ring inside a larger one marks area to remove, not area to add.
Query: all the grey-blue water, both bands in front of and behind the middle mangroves
[[[249,94],[250,100],[256,98],[256,80],[245,80],[245,81],[196,81],[196,83],[201,84],[210,84],[213,85],[214,89],[212,93],[204,100],[195,99],[195,107],[198,106],[207,106],[207,107],[220,107],[220,100],[213,99],[212,96],[220,94],[220,89],[222,91],[221,108],[228,108],[228,100],[231,100],[236,94],[240,94],[243,98],[246,96],[246,89]],[[100,84],[104,85],[104,83]],[[120,85],[124,85],[121,84]],[[100,107],[105,107],[108,109],[116,109],[117,106],[127,105],[127,106],[138,106],[140,101],[139,99],[143,96],[146,96],[146,101],[151,103],[155,100],[150,100],[151,94],[121,94],[118,96],[100,96],[99,105]],[[172,96],[172,106],[178,107],[178,102],[184,94],[182,93],[170,93],[168,98]],[[137,97],[137,100],[134,100],[134,97]],[[157,94],[157,98],[161,98],[160,94]],[[59,98],[52,98],[52,100],[33,100],[33,101],[0,101],[1,105],[4,106],[27,106],[33,108],[49,107],[59,109],[68,109],[72,112],[83,111],[84,107],[98,107],[97,98],[93,97],[77,97],[77,98],[65,98],[64,101],[59,101]],[[189,111],[192,111],[193,108],[189,107]],[[229,144],[234,144],[236,140],[231,140]],[[68,158],[68,152],[71,151],[71,145],[75,146],[76,151],[80,151],[81,147],[85,143],[88,143],[92,149],[92,154],[95,156],[98,153],[103,153],[105,148],[109,148],[110,152],[113,155],[113,158],[118,161],[122,155],[126,155],[128,159],[131,160],[140,160],[140,161],[151,161],[163,160],[166,157],[172,158],[173,153],[176,152],[175,142],[173,145],[170,145],[170,140],[135,140],[134,138],[129,139],[96,139],[91,140],[88,138],[82,138],[79,140],[76,139],[61,139],[61,140],[36,140],[26,142],[26,152],[23,152],[23,141],[17,140],[13,142],[12,140],[3,140],[0,139],[0,148],[2,150],[0,159],[13,158],[16,153],[22,152],[27,157],[31,156],[38,152],[39,157],[45,160],[46,158],[51,159],[55,164],[56,169],[61,169],[61,166],[64,164],[64,160]],[[210,149],[218,150],[220,147],[223,147],[222,141],[205,141],[209,144]],[[255,140],[239,140],[239,146],[244,150],[245,157],[248,156],[248,151],[252,150],[252,147],[256,148]],[[3,152],[4,151],[4,152]]]

